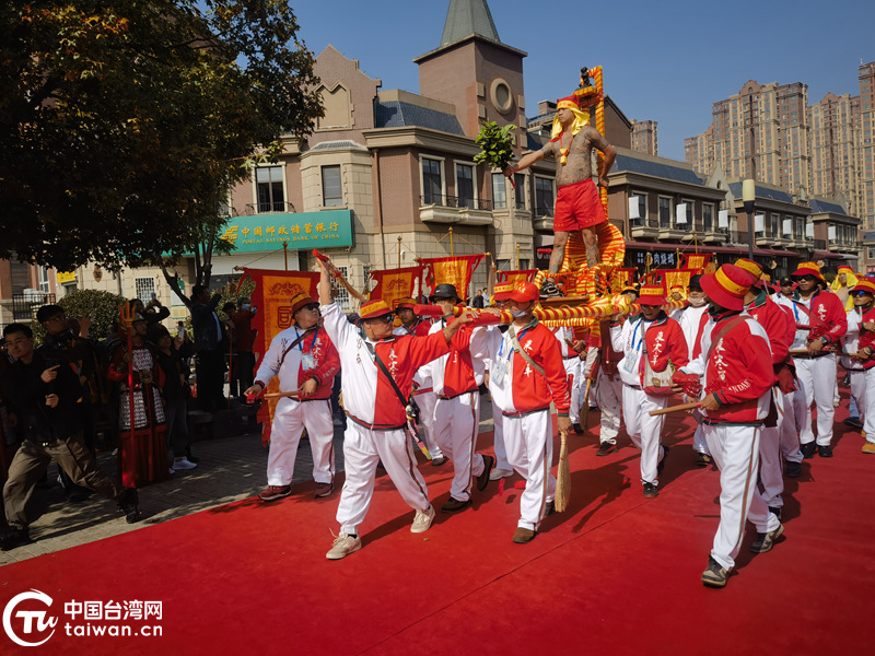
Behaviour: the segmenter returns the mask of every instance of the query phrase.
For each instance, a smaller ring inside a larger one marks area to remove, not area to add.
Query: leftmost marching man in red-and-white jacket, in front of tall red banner
[[[335,427],[331,421],[331,387],[340,359],[328,333],[319,326],[319,304],[300,293],[291,301],[291,328],[277,333],[261,360],[255,383],[245,394],[255,401],[273,376],[280,377],[280,391],[298,391],[277,402],[270,430],[267,457],[267,489],[261,501],[276,501],[292,493],[294,461],[301,435],[306,430],[313,452],[314,496],[334,492]]]

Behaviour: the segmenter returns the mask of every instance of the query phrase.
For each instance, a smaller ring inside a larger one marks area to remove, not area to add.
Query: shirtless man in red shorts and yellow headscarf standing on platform
[[[558,191],[556,195],[556,223],[553,226],[553,250],[550,255],[549,272],[555,277],[562,266],[569,234],[581,231],[586,246],[586,265],[598,263],[598,243],[595,227],[607,221],[598,187],[593,183],[593,149],[605,155],[604,166],[598,171],[598,186],[608,188],[608,172],[614,165],[617,152],[602,133],[587,125],[586,115],[581,112],[574,96],[557,102],[551,141],[539,151],[525,155],[520,163],[504,169],[511,177],[514,173],[540,162],[546,156],[559,161],[556,173]],[[550,278],[541,285],[541,294],[556,296],[559,291]]]

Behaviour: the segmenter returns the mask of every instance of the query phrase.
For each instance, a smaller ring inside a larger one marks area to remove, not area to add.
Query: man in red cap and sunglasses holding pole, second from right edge
[[[815,448],[822,458],[832,457],[832,422],[836,388],[836,351],[839,340],[848,330],[848,316],[836,294],[817,289],[822,282],[820,267],[803,262],[794,271],[798,288],[793,294],[796,320],[796,338],[792,350],[807,350],[807,354],[794,355],[796,374],[805,389],[806,412],[800,431],[802,453],[813,458]],[[804,328],[807,330],[800,330]],[[817,443],[812,430],[812,403],[817,405]]]

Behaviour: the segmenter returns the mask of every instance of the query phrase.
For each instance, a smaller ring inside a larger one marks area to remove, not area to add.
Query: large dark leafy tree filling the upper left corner
[[[178,290],[189,253],[209,284],[230,189],[323,114],[285,0],[10,2],[0,30],[0,257]]]

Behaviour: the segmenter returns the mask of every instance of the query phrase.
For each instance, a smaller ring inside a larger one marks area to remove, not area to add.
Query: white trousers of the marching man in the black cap
[[[468,391],[452,399],[438,398],[434,406],[434,442],[453,460],[450,495],[468,501],[471,480],[483,472],[483,457],[475,454],[480,432],[480,393]]]

